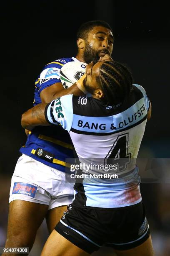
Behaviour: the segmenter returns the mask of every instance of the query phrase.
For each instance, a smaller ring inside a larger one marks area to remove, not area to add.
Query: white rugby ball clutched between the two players
[[[77,82],[85,74],[86,63],[71,61],[64,64],[60,70],[60,79],[65,89]]]

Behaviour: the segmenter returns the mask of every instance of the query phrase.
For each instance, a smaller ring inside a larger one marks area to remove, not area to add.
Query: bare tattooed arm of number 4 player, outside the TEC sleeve
[[[21,125],[24,129],[32,130],[38,125],[50,125],[45,119],[45,107],[47,103],[41,103],[23,113]]]

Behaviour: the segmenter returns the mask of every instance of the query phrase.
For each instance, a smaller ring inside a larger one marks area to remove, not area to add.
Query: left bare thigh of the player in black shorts
[[[87,256],[89,253],[83,251],[66,238],[53,230],[47,239],[41,256]]]

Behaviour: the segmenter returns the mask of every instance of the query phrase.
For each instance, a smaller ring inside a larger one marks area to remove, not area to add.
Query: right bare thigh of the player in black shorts
[[[115,250],[115,252],[117,256],[153,256],[154,253],[151,236],[149,236],[149,238],[140,246],[126,251]]]

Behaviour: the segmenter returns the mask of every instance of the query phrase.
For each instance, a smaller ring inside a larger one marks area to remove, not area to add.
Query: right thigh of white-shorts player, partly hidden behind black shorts
[[[67,210],[67,205],[55,207],[47,211],[46,222],[49,233],[55,228],[56,224],[60,221],[63,212]]]

